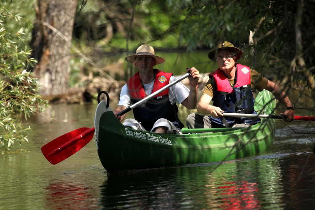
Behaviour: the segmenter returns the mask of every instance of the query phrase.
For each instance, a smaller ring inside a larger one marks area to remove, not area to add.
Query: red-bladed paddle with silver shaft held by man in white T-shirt
[[[140,104],[148,101],[149,99],[153,98],[157,94],[163,92],[164,90],[168,89],[169,87],[175,85],[176,83],[179,83],[181,80],[187,78],[189,76],[189,73],[186,73],[185,75],[181,76],[180,78],[176,79],[175,81],[169,83],[168,85],[164,86],[163,88],[155,91],[154,93],[150,94],[149,96],[146,96],[144,99],[140,100],[139,102],[136,102],[135,104],[131,105],[130,107],[124,109],[123,111],[119,112],[117,116],[126,114],[130,110],[134,109],[135,107],[139,106]],[[45,144],[41,149],[42,153],[45,156],[45,158],[51,163],[51,164],[57,164],[61,162],[62,160],[67,159],[80,149],[82,149],[87,143],[91,141],[91,139],[94,136],[94,127],[93,128],[79,128],[74,131],[70,131],[51,142]]]

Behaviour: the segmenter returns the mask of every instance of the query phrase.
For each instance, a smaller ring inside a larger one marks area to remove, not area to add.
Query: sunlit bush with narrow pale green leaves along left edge
[[[9,149],[15,142],[27,141],[27,131],[22,125],[31,114],[48,107],[39,95],[39,86],[28,65],[36,62],[29,58],[31,50],[26,44],[31,29],[29,20],[0,6],[0,147]],[[18,26],[18,27],[17,27]]]

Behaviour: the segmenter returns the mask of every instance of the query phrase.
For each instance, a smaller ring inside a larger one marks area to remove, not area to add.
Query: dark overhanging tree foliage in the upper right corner
[[[174,13],[186,17],[180,24],[180,40],[186,40],[188,49],[213,48],[222,40],[229,40],[241,45],[244,58],[252,60],[262,55],[264,65],[257,66],[262,72],[277,72],[277,76],[284,78],[289,70],[293,81],[314,81],[306,78],[307,72],[313,76],[315,73],[314,1],[303,4],[303,1],[169,0],[169,3],[174,5]],[[250,31],[255,32],[252,44]],[[299,33],[301,41],[297,39]],[[297,63],[300,56],[306,66]],[[294,69],[292,62],[296,62]],[[309,85],[314,88],[315,84]]]

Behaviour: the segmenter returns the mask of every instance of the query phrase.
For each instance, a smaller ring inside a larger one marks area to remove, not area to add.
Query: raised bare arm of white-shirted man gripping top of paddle
[[[194,109],[196,108],[197,100],[198,100],[198,80],[200,78],[200,74],[195,67],[187,69],[187,73],[190,72],[189,79],[189,95],[188,97],[181,102],[186,108]]]

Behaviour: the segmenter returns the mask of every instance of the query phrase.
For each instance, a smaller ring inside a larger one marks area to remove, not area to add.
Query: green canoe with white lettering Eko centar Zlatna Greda
[[[272,114],[274,108],[272,93],[264,90],[257,95],[255,110],[259,114]],[[196,130],[187,128],[182,131],[182,135],[155,134],[125,127],[106,108],[105,101],[99,103],[95,113],[97,152],[109,173],[257,155],[272,148],[275,120],[263,118],[248,128],[223,128],[213,133],[188,134]]]

